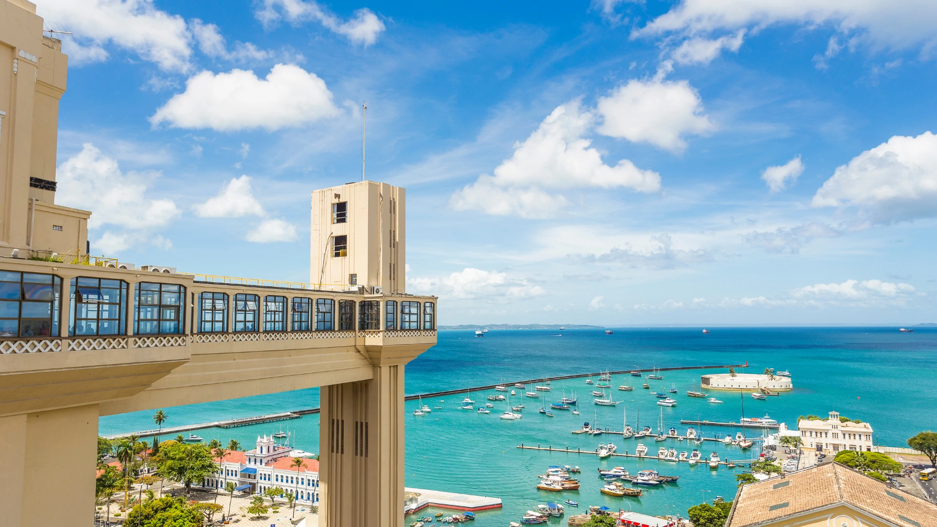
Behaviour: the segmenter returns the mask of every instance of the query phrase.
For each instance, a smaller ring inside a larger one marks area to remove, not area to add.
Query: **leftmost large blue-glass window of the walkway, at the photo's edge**
[[[58,335],[62,279],[0,271],[0,337]]]

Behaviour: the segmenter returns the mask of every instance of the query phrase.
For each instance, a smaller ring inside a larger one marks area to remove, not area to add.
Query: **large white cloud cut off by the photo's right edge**
[[[858,206],[874,221],[937,215],[937,136],[896,135],[836,169],[813,206]]]

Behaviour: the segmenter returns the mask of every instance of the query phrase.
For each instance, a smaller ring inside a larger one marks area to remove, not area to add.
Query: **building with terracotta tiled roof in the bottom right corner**
[[[923,527],[937,505],[837,462],[741,486],[726,527]]]

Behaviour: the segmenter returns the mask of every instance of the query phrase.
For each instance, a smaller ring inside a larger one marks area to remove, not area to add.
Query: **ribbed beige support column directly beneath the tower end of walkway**
[[[320,521],[404,525],[404,365],[321,388]]]

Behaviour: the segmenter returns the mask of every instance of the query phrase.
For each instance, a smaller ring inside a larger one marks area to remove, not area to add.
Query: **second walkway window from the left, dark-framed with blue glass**
[[[71,279],[68,335],[124,335],[126,293],[123,280]]]

